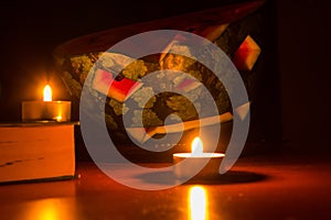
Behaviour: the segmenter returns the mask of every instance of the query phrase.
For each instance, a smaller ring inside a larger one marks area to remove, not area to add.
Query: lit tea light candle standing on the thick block
[[[57,121],[71,120],[71,101],[52,101],[52,89],[44,87],[43,101],[23,101],[22,121]]]

